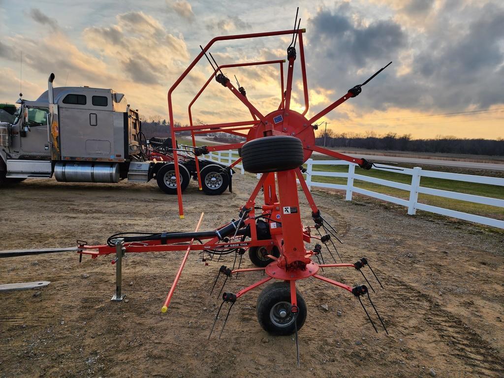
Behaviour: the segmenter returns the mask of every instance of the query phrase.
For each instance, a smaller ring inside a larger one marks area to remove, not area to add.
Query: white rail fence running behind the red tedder
[[[231,164],[232,162],[238,159],[238,153],[236,151],[219,151],[219,152],[211,152],[208,155],[204,155],[209,160],[214,160],[223,164]],[[346,165],[348,166],[347,172],[325,172],[314,170],[313,166],[315,165]],[[380,164],[383,167],[388,168],[396,168],[394,166],[389,166],[385,164]],[[470,222],[476,222],[485,224],[487,226],[497,227],[504,229],[504,221],[499,219],[493,219],[488,217],[482,217],[480,215],[464,213],[460,211],[440,208],[436,206],[431,206],[427,204],[422,204],[418,202],[418,194],[426,194],[436,197],[444,197],[450,198],[453,200],[461,200],[466,202],[472,202],[476,204],[495,206],[499,208],[504,208],[504,200],[497,198],[489,198],[482,196],[475,196],[472,194],[444,191],[440,189],[434,189],[430,187],[420,186],[421,177],[432,177],[432,178],[442,178],[446,180],[453,180],[454,186],[456,185],[456,181],[462,182],[474,182],[488,185],[497,185],[503,187],[504,191],[504,178],[498,177],[487,177],[487,176],[475,176],[470,174],[459,174],[459,173],[448,173],[448,172],[437,172],[437,171],[429,171],[423,170],[420,167],[414,168],[401,168],[402,170],[393,170],[395,173],[405,174],[411,176],[411,183],[406,184],[402,182],[389,181],[384,180],[382,178],[369,177],[361,174],[355,173],[356,164],[348,163],[343,160],[313,160],[308,159],[306,161],[306,184],[308,185],[308,189],[311,190],[311,187],[324,187],[331,189],[339,189],[346,192],[345,199],[347,201],[352,200],[353,193],[358,193],[364,196],[369,196],[373,198],[377,198],[382,201],[392,202],[397,205],[402,205],[408,208],[409,215],[415,215],[417,210],[428,211],[435,214],[445,215],[452,218],[463,219]],[[244,173],[243,166],[238,164],[236,168],[241,169],[241,174]],[[390,169],[376,168],[373,169],[384,170],[387,172],[391,172]],[[333,184],[327,182],[317,182],[313,178],[316,176],[324,176],[324,177],[342,177],[346,178],[346,184]],[[258,178],[260,175],[258,174]],[[371,182],[376,185],[389,186],[396,189],[400,189],[406,192],[409,192],[409,199],[397,198],[389,195],[385,195],[382,193],[377,193],[373,191],[369,191],[363,189],[361,187],[356,186],[354,180],[360,180],[365,182]]]

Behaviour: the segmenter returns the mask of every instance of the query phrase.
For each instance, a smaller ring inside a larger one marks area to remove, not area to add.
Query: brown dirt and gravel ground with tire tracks
[[[202,211],[201,229],[214,229],[237,217],[257,180],[237,175],[233,183],[234,193],[219,197],[192,184],[179,220],[176,197],[163,195],[155,182],[26,180],[0,189],[0,249],[104,243],[118,231],[190,231]],[[341,194],[316,192],[314,198],[339,231],[344,260],[367,257],[384,283],[385,289],[373,285],[371,297],[390,335],[374,332],[348,292],[304,280],[298,287],[308,317],[299,331],[297,368],[293,338],[272,337],[257,322],[260,289],[236,302],[220,340],[215,333],[207,339],[220,304],[209,291],[222,260],[205,266],[190,255],[163,314],[183,252],[128,255],[128,301],[120,303],[110,301],[111,257],[80,264],[73,253],[9,258],[0,260],[2,283],[51,283],[0,293],[0,376],[421,377],[431,376],[430,369],[438,377],[504,376],[503,233],[425,213],[407,216],[403,208],[362,197],[349,203]],[[351,268],[321,274],[365,283]],[[260,278],[242,274],[226,287],[237,292]]]

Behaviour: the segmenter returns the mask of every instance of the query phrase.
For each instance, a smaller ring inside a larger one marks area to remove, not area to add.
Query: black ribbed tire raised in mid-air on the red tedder
[[[251,173],[280,172],[303,165],[303,144],[287,135],[264,137],[241,148],[243,169]]]

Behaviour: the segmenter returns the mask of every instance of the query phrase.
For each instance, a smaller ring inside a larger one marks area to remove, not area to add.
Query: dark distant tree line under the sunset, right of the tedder
[[[326,147],[504,156],[504,139],[502,138],[491,140],[438,136],[433,139],[412,139],[411,134],[379,135],[374,132],[337,134],[333,130],[327,130],[326,133],[321,130],[315,143],[323,146],[324,139]]]

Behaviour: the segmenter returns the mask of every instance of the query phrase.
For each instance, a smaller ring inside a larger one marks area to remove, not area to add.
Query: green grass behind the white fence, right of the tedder
[[[410,166],[403,165],[409,168]],[[423,169],[423,167],[422,167]],[[314,171],[326,171],[326,172],[348,172],[348,166],[346,165],[314,165]],[[425,170],[433,170],[430,167],[426,167]],[[440,169],[443,170],[443,169]],[[405,184],[411,183],[411,176],[407,174],[396,173],[393,171],[381,171],[377,169],[364,170],[362,168],[356,167],[355,173],[363,176],[370,176],[381,178],[389,181],[402,182]],[[460,172],[459,170],[459,173]],[[471,174],[471,172],[463,172]],[[346,185],[347,179],[340,177],[324,177],[324,176],[312,176],[312,181],[314,182],[328,182],[335,184]],[[385,195],[402,198],[405,200],[409,199],[409,192],[396,189],[393,187],[383,186],[374,184],[372,182],[366,182],[361,180],[354,180],[354,186],[360,187],[362,189],[373,191],[377,193],[382,193]],[[472,194],[476,196],[491,197],[497,199],[504,199],[504,188],[502,186],[496,185],[486,185],[463,181],[446,180],[440,178],[431,177],[421,177],[420,186],[430,187],[445,191],[459,192]],[[456,211],[461,211],[465,213],[471,213],[476,215],[487,216],[496,219],[504,220],[504,208],[499,208],[495,206],[487,206],[481,204],[474,204],[471,202],[452,200],[449,198],[436,197],[430,195],[419,194],[418,202],[432,205],[437,207],[443,207],[446,209],[452,209]]]

